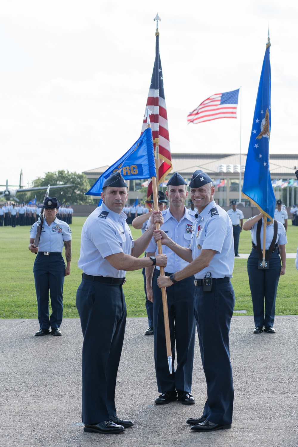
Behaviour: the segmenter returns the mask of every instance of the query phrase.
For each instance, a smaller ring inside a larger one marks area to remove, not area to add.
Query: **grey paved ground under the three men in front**
[[[153,337],[146,318],[128,318],[118,371],[122,434],[84,433],[81,422],[80,320],[64,319],[63,337],[34,337],[37,320],[0,320],[0,447],[296,447],[298,316],[276,316],[276,334],[252,334],[252,316],[233,316],[230,332],[235,401],[231,430],[193,433],[206,381],[196,337],[195,405],[155,405]]]

